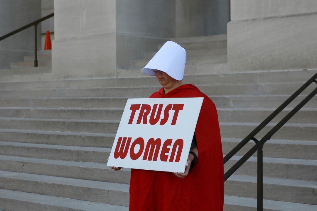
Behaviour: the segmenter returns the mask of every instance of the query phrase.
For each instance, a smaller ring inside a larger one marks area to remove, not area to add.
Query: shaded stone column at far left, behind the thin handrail
[[[8,34],[41,18],[41,0],[0,1],[0,36]],[[41,25],[37,25],[37,48],[41,49]],[[34,27],[0,41],[0,68],[10,68],[10,62],[23,61],[34,55]]]

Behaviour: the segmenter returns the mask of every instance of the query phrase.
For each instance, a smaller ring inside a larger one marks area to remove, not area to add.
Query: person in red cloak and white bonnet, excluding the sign
[[[196,86],[183,84],[185,63],[185,49],[167,41],[143,72],[156,76],[162,85],[150,98],[204,97],[195,128],[197,146],[191,150],[198,161],[191,173],[191,153],[184,173],[132,169],[129,211],[223,210],[223,152],[217,109]]]

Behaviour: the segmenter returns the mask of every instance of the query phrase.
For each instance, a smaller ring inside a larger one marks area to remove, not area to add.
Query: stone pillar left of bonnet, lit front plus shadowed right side
[[[55,0],[54,9],[54,78],[116,77],[174,35],[174,1]]]

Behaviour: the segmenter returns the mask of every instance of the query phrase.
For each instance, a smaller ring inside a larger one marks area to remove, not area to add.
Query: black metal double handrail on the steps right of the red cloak
[[[242,158],[240,158],[225,174],[224,181],[226,181],[242,164],[244,164],[256,151],[257,154],[257,211],[263,210],[263,151],[262,147],[264,143],[271,139],[274,135],[290,118],[292,118],[311,98],[317,94],[317,88],[315,88],[309,95],[307,95],[294,109],[292,109],[281,121],[279,121],[275,127],[273,127],[261,140],[257,140],[255,135],[259,133],[263,127],[265,127],[273,118],[278,115],[289,103],[291,103],[295,97],[301,94],[310,84],[315,82],[317,84],[317,73],[314,74],[305,84],[303,84],[297,91],[294,92],[285,102],[283,102],[271,115],[269,115],[258,127],[256,127],[247,137],[245,137],[236,147],[234,147],[223,158],[223,164],[225,164],[233,155],[235,155],[246,143],[250,140],[256,142]]]

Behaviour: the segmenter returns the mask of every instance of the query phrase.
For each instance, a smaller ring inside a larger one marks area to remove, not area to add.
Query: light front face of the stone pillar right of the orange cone
[[[116,1],[55,0],[54,78],[116,76]]]

